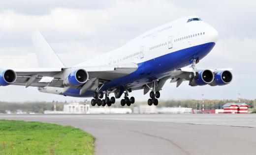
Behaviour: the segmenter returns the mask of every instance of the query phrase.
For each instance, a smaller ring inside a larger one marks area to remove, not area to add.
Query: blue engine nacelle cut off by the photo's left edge
[[[10,85],[16,81],[17,75],[13,70],[0,71],[0,86]]]

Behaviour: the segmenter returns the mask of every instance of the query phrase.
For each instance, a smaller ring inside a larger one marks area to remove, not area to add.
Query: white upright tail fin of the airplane
[[[59,56],[47,43],[39,30],[32,32],[32,42],[35,47],[38,65],[41,68],[65,67]]]

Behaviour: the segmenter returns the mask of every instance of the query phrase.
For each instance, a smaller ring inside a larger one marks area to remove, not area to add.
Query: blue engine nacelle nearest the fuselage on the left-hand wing
[[[78,86],[84,84],[89,78],[88,72],[84,69],[76,69],[71,71],[71,73],[65,78],[65,86]]]

